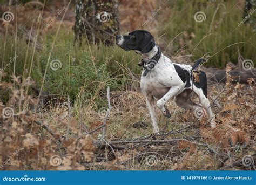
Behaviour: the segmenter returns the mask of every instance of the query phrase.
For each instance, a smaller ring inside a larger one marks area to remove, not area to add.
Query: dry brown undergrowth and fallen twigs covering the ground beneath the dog
[[[228,75],[226,86],[210,87],[209,97],[216,97],[212,107],[217,128],[212,130],[206,124],[207,115],[196,121],[191,111],[170,102],[172,118],[166,126],[166,119],[159,113],[160,127],[165,131],[180,128],[181,131],[157,137],[150,135],[152,129],[143,95],[131,91],[112,92],[114,108],[106,122],[107,138],[103,143],[138,140],[142,136],[152,140],[182,140],[111,147],[93,144],[102,140],[101,129],[86,134],[103,124],[92,107],[81,108],[79,117],[73,113],[73,107],[70,111],[68,103],[50,109],[36,107],[38,98],[27,93],[32,81],[12,79],[13,83],[0,84],[1,90],[11,92],[9,101],[0,104],[2,170],[213,170],[255,154],[253,79],[248,79],[249,85],[234,84]],[[219,106],[215,106],[217,102]],[[138,122],[137,126],[134,122]],[[253,169],[252,166],[240,168]]]

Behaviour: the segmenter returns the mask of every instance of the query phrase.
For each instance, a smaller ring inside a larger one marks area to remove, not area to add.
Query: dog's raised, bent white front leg
[[[165,106],[166,102],[179,94],[179,92],[183,89],[183,87],[181,86],[175,86],[175,87],[171,87],[170,90],[160,99],[157,101],[157,106],[158,108],[160,108],[161,112],[163,112],[163,114],[165,114],[167,117],[170,117],[170,113],[167,112],[167,108]]]

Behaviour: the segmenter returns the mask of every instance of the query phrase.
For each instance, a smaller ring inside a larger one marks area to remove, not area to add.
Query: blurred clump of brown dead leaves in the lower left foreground
[[[44,120],[42,124],[37,124],[36,122],[41,119],[42,114],[30,110],[29,105],[33,102],[31,97],[26,94],[26,86],[31,85],[32,82],[30,79],[21,80],[19,77],[14,77],[13,80],[17,88],[9,87],[6,83],[0,85],[4,86],[3,88],[10,88],[12,94],[6,105],[14,107],[12,108],[14,109],[12,117],[3,121],[4,135],[1,151],[4,152],[1,152],[0,159],[6,161],[11,156],[10,154],[15,151],[19,152],[3,165],[3,169],[84,170],[85,167],[81,164],[94,160],[95,147],[91,136],[85,135],[76,139],[80,129],[79,124],[63,112],[59,117],[53,115],[52,122]],[[1,112],[4,107],[6,106],[1,104]],[[23,108],[22,111],[18,111],[18,107]],[[70,135],[73,136],[68,135],[69,138],[65,139],[60,128],[68,126]],[[57,165],[51,161],[53,156],[58,156]]]

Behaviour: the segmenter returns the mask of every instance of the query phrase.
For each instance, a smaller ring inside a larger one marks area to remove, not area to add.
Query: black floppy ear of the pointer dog
[[[143,53],[150,52],[156,44],[154,43],[154,37],[150,32],[144,31],[144,36],[139,43],[140,51]]]

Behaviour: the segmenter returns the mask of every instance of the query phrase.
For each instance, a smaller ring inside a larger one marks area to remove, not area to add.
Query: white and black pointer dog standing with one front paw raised
[[[201,105],[207,110],[211,127],[216,127],[215,116],[207,99],[206,74],[203,71],[198,72],[199,81],[192,75],[192,70],[197,71],[198,65],[205,59],[197,60],[193,66],[174,64],[161,52],[151,33],[145,30],[136,30],[129,35],[117,35],[116,43],[122,49],[133,50],[143,57],[139,63],[139,66],[143,67],[140,87],[146,97],[154,133],[159,132],[154,99],[157,99],[161,112],[170,117],[170,112],[165,106],[170,98],[175,97],[176,104],[183,108],[195,110],[201,107],[191,101],[192,91],[198,95]]]

